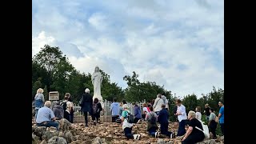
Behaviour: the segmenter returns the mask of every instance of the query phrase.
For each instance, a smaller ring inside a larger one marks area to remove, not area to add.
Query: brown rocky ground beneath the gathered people
[[[154,138],[147,134],[146,122],[135,124],[133,127],[134,134],[141,134],[140,140],[130,139],[127,140],[122,125],[114,122],[104,122],[97,124],[97,126],[90,123],[89,127],[85,127],[83,123],[74,123],[66,121],[66,119],[60,120],[59,131],[54,127],[46,128],[44,126],[38,127],[35,125],[34,119],[32,119],[32,143],[38,144],[103,144],[103,143],[138,143],[138,144],[179,144],[180,138],[167,138],[166,136],[160,136],[160,138]],[[174,131],[177,134],[178,123],[173,122],[169,124],[169,130]],[[224,137],[218,137],[218,139],[210,139],[202,143],[224,143]]]

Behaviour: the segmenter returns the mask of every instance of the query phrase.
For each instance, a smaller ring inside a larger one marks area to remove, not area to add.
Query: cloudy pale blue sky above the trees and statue
[[[133,71],[179,96],[224,89],[222,0],[32,0],[32,56],[45,44],[123,89]]]

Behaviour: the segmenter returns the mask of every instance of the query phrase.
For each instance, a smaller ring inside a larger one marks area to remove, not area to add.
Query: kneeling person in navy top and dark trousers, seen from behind
[[[166,110],[166,105],[162,104],[162,110],[160,110],[158,115],[158,122],[160,123],[161,134],[165,134],[168,137],[172,138],[173,133],[168,131],[169,125],[169,112]]]

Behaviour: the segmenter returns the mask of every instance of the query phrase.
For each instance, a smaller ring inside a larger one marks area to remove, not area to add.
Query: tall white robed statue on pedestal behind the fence
[[[98,66],[95,67],[94,73],[91,75],[91,82],[94,85],[94,98],[98,98],[98,102],[102,102],[101,85],[102,74],[99,72]]]

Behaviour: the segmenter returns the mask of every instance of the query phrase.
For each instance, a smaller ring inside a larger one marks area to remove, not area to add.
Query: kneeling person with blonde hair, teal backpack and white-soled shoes
[[[130,110],[128,110],[127,104],[124,104],[122,106],[122,108],[123,108],[122,118],[121,118],[122,119],[122,130],[124,130],[126,138],[127,139],[130,139],[130,138],[139,139],[141,136],[140,134],[132,134],[131,133],[133,123],[129,123],[127,121],[128,116],[130,114]]]

